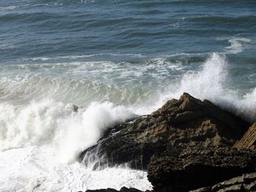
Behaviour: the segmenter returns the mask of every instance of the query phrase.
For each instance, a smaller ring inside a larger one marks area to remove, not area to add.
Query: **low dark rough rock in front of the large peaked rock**
[[[148,164],[148,180],[154,191],[181,192],[214,185],[255,170],[256,153],[249,150],[187,147],[178,157],[168,152],[154,155]],[[208,191],[208,188],[200,190]]]

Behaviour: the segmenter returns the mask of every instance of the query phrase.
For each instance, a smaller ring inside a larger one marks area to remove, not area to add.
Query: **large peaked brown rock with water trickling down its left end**
[[[80,159],[94,169],[115,164],[147,169],[152,155],[166,151],[179,156],[187,147],[233,146],[248,127],[244,120],[210,101],[184,93],[151,115],[109,128]]]

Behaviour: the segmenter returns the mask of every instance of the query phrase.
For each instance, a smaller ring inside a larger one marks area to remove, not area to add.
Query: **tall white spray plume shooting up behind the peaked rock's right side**
[[[156,106],[161,107],[168,99],[178,99],[187,92],[198,99],[208,99],[214,104],[250,121],[256,121],[256,88],[240,96],[238,91],[229,88],[225,55],[214,53],[198,72],[189,71],[176,84],[170,85],[162,94]]]

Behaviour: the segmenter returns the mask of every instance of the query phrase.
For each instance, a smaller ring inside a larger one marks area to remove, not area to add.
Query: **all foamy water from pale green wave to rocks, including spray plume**
[[[134,117],[135,114],[151,113],[168,99],[178,98],[183,92],[199,99],[208,99],[247,120],[256,120],[256,89],[239,96],[236,90],[229,88],[227,60],[225,55],[217,53],[212,54],[198,71],[187,71],[189,68],[184,68],[182,64],[173,64],[164,58],[139,65],[77,62],[56,66],[1,67],[0,99],[5,102],[0,104],[0,191],[85,191],[87,188],[119,189],[121,186],[150,189],[146,172],[120,167],[96,172],[78,164],[75,159],[81,150],[97,142],[108,126]],[[187,72],[179,79],[175,76],[176,79],[172,81],[173,74],[182,71]],[[62,74],[68,78],[65,79]],[[94,77],[94,74],[99,78]],[[47,77],[52,76],[52,80],[47,80]],[[101,79],[101,76],[105,78]],[[148,80],[143,82],[142,78]],[[83,84],[79,88],[76,83],[71,83],[74,80],[91,80],[99,86],[86,88],[86,84]],[[109,83],[109,87],[102,87],[99,82]],[[112,89],[114,82],[122,82],[125,86],[116,83],[116,89]],[[138,88],[146,85],[152,88],[152,82],[155,91],[138,91]],[[69,93],[74,85],[78,89],[72,89],[74,93]],[[135,88],[129,90],[129,85]],[[157,89],[156,85],[166,88]],[[92,95],[91,99],[100,102],[90,100],[84,104],[84,108],[73,112],[67,102],[51,99],[56,94],[67,96],[69,102],[77,96],[89,98],[86,91],[79,92],[83,90],[82,87],[93,90],[97,95]],[[129,91],[135,100],[129,97]],[[34,94],[37,92],[47,97],[42,99]],[[128,102],[118,105],[118,99],[114,100],[114,104],[104,101],[110,100],[110,97],[105,97],[106,93],[121,94],[113,98],[121,97]],[[19,96],[20,101],[24,101],[26,96],[29,101],[31,98],[35,100],[21,105],[10,101]]]

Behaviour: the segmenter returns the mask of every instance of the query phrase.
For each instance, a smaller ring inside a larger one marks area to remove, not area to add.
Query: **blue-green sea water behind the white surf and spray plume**
[[[0,101],[134,103],[212,53],[243,95],[256,82],[255,10],[255,1],[1,1]]]

